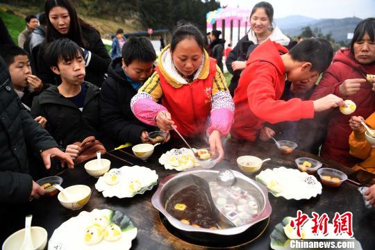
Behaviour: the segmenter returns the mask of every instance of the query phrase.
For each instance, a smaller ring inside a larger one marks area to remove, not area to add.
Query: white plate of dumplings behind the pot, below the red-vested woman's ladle
[[[176,169],[177,171],[184,171],[193,167],[199,167],[194,153],[190,149],[171,149],[159,158],[159,163],[164,165],[165,169]]]

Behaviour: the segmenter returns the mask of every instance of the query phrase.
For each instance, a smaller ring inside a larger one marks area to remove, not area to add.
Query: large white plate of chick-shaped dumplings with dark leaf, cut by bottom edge
[[[49,250],[130,249],[137,228],[119,211],[94,209],[68,219],[53,232]]]

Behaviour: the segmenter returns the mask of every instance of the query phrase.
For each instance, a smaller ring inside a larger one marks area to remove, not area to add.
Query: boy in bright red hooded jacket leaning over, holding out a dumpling
[[[285,76],[288,81],[305,81],[324,72],[332,57],[331,44],[319,38],[303,40],[290,51],[271,40],[260,44],[251,53],[235,90],[233,138],[254,141],[265,122],[312,119],[315,111],[344,105],[333,94],[316,101],[280,100]]]

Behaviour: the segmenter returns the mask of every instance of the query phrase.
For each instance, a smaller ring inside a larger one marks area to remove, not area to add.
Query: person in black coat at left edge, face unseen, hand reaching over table
[[[50,157],[65,160],[73,167],[72,159],[57,148],[51,135],[23,108],[12,86],[8,66],[0,56],[0,242],[13,233],[15,206],[40,197],[44,190],[30,175],[35,167],[30,165],[28,151],[42,157],[47,169]],[[24,220],[22,215],[20,219]],[[10,220],[8,220],[10,218]]]

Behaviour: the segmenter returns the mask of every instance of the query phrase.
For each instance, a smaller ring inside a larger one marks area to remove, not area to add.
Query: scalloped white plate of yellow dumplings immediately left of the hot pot
[[[95,188],[103,192],[104,197],[130,198],[143,194],[158,183],[158,174],[147,167],[132,166],[110,169],[101,176]]]

